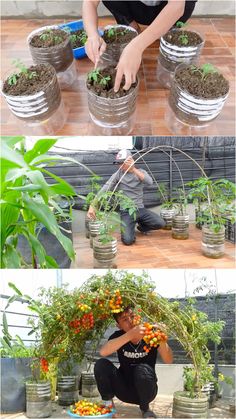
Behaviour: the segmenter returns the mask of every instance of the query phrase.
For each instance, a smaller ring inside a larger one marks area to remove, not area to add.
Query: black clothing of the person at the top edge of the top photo
[[[191,17],[196,1],[185,1],[184,14],[178,21],[186,22]],[[141,1],[103,1],[117,23],[121,25],[129,25],[133,20],[143,25],[150,25],[167,3],[167,1],[163,1],[157,6],[146,6]]]

